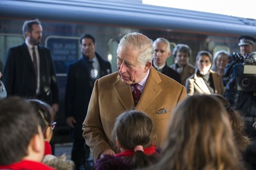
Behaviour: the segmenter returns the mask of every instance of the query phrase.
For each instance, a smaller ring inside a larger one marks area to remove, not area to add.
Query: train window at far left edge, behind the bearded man
[[[0,72],[3,72],[7,50],[24,42],[23,35],[0,33]]]

